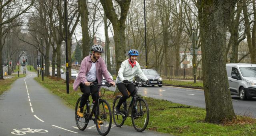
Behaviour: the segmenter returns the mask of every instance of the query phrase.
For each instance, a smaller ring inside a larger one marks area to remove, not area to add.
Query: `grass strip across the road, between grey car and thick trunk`
[[[203,89],[203,81],[197,81],[196,83],[190,81],[170,81],[170,80],[163,80],[163,85],[167,86],[178,86],[178,87],[188,87],[188,88],[198,88]]]

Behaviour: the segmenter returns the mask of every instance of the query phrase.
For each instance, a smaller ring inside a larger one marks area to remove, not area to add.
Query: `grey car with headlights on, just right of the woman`
[[[156,72],[156,70],[153,70],[153,69],[142,69],[142,72],[144,72],[145,76],[148,78],[149,84],[151,86],[158,85],[159,87],[162,87],[162,85],[163,85],[162,78],[160,77],[158,72]],[[135,80],[136,81],[140,81],[141,79],[138,76],[135,76]],[[143,87],[146,86],[146,82],[145,81],[142,81],[142,86]]]

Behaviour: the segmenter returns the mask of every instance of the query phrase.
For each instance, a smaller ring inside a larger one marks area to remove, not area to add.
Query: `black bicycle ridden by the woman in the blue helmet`
[[[120,95],[116,96],[113,102],[113,110],[112,110],[113,120],[116,126],[121,127],[124,124],[124,121],[126,120],[126,118],[129,116],[132,118],[132,125],[135,128],[135,130],[137,130],[138,132],[142,132],[148,126],[148,121],[149,121],[148,103],[141,96],[138,96],[138,88],[141,82],[134,81],[128,84],[134,84],[135,94],[132,97],[132,101],[129,105],[128,110],[127,110],[127,101],[123,102],[120,107],[120,112],[125,116],[115,114],[115,107],[118,104],[118,101],[120,100],[120,98],[122,97]],[[130,98],[131,96],[132,94],[130,94],[128,98]]]

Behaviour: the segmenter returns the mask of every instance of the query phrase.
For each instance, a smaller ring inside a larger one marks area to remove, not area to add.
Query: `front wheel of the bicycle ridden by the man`
[[[106,100],[100,100],[95,115],[95,124],[100,135],[106,136],[112,125],[112,112]]]

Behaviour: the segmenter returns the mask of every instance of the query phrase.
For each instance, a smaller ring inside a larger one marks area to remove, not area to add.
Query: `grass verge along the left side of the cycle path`
[[[14,76],[12,78],[7,78],[4,80],[0,80],[0,95],[2,95],[3,92],[7,91],[11,88],[11,84],[17,80],[18,78],[23,78],[26,75],[20,74],[20,77],[18,77],[18,74],[12,74],[11,76]]]

